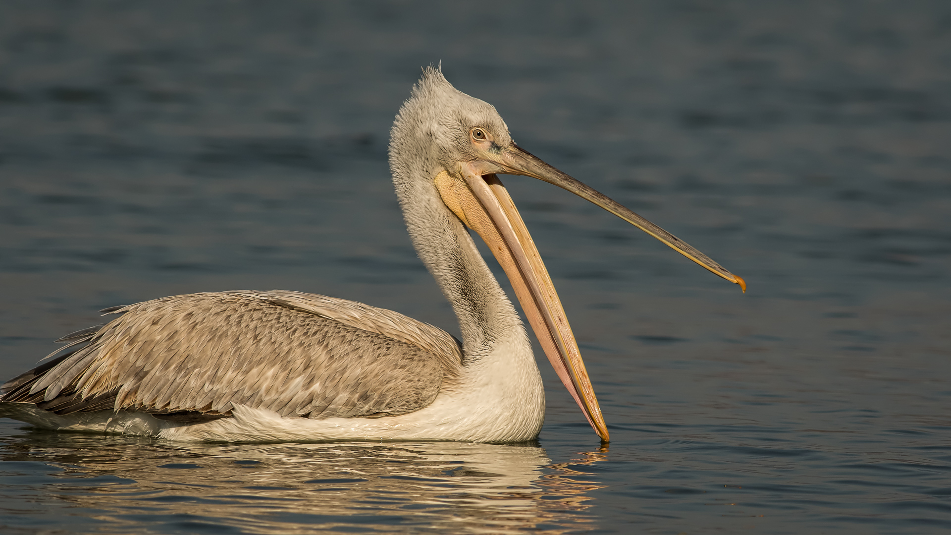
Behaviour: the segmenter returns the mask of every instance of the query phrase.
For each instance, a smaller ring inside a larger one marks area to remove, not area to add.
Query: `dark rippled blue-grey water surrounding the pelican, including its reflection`
[[[946,2],[7,2],[0,375],[96,310],[313,291],[456,331],[388,129],[419,68],[744,276],[502,177],[611,428],[181,445],[0,423],[5,533],[944,533]],[[543,359],[544,360],[544,359]]]

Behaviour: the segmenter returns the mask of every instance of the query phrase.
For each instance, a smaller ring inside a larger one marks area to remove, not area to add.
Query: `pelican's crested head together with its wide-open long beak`
[[[448,210],[488,244],[559,378],[604,441],[608,440],[607,425],[572,328],[496,173],[530,176],[567,189],[746,289],[743,279],[707,255],[518,147],[495,107],[454,88],[439,69],[424,70],[399,110],[391,132],[390,165],[411,234],[426,231],[413,231],[418,221],[439,220]],[[418,243],[417,249],[426,261],[429,252]]]

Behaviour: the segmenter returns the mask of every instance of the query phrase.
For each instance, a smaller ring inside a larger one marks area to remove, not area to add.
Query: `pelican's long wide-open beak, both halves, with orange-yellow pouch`
[[[458,162],[454,174],[462,180],[454,178],[447,171],[440,172],[435,179],[437,190],[443,203],[467,227],[476,230],[492,250],[495,259],[508,275],[515,296],[561,382],[581,407],[594,432],[602,441],[608,442],[608,426],[552,278],[512,198],[494,173],[531,176],[568,189],[643,229],[728,281],[744,289],[746,283],[663,228],[553,168],[514,143],[494,156],[475,162]]]

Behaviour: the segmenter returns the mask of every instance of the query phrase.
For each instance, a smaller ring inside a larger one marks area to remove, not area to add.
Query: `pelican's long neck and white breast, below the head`
[[[433,182],[401,181],[396,168],[394,181],[413,244],[456,311],[462,333],[461,383],[447,394],[485,432],[501,426],[536,434],[545,392],[512,302]]]

